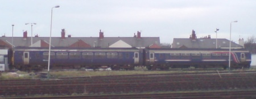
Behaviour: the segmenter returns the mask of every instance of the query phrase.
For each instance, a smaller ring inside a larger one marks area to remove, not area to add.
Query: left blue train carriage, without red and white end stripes
[[[13,50],[13,65],[19,70],[42,70],[48,67],[48,48]],[[142,64],[142,51],[136,48],[52,48],[50,68],[107,68],[133,70]]]

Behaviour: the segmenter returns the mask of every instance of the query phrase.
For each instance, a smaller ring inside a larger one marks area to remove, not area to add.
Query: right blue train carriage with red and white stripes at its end
[[[229,66],[229,49],[145,49],[148,70],[169,68],[210,68]],[[232,49],[230,68],[250,67],[251,54],[245,49]]]

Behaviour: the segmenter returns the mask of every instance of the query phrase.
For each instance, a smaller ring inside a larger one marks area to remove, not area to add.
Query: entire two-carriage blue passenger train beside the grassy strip
[[[137,48],[48,48],[15,47],[8,52],[9,67],[22,71],[64,68],[112,68],[148,70],[170,68],[210,68],[229,66],[228,49],[137,49]],[[251,54],[245,49],[232,49],[230,67],[250,67]]]

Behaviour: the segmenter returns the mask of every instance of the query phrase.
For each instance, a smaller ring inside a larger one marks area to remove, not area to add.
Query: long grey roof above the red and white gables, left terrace
[[[12,42],[12,37],[0,37],[0,40],[5,42],[6,44],[10,44]],[[43,40],[46,44],[49,44],[49,37],[33,37],[33,45]],[[102,48],[107,48],[115,42],[122,40],[132,47],[146,47],[152,44],[160,44],[159,37],[104,37],[100,39],[99,37],[52,37],[51,45],[52,46],[71,46],[81,40],[85,42],[85,44],[89,44],[90,46],[97,46]],[[81,42],[80,41],[80,42]],[[94,44],[95,42],[95,44]],[[23,37],[13,37],[13,45],[14,46],[31,46],[31,37],[23,38]]]

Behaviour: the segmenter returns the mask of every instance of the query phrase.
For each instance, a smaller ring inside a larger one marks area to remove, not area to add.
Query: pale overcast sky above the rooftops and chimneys
[[[210,35],[232,41],[256,33],[255,0],[0,0],[0,35],[49,37],[51,8],[53,8],[52,37],[98,37],[100,29],[105,37],[160,37],[161,43],[173,38],[189,38],[192,29],[197,38]]]

